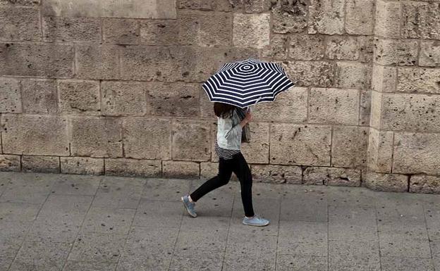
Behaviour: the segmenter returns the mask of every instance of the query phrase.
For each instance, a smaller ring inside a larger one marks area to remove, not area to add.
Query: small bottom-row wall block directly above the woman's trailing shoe
[[[163,175],[165,178],[199,178],[199,163],[189,161],[164,160]]]

